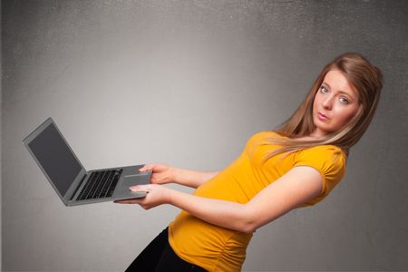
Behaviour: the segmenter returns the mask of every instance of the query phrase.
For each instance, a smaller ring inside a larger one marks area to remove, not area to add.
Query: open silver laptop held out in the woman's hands
[[[51,118],[23,142],[65,206],[146,196],[144,191],[132,192],[129,188],[148,184],[151,171],[140,172],[143,165],[85,170]]]

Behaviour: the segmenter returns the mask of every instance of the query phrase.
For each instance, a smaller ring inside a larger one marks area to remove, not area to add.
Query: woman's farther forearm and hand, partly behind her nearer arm
[[[219,171],[195,171],[175,168],[167,164],[153,163],[143,166],[141,171],[151,170],[151,183],[165,184],[175,182],[183,186],[198,188],[199,185],[210,180]]]

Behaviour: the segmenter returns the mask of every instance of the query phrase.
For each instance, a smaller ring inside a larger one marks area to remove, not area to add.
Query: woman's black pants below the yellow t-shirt
[[[206,271],[183,260],[170,247],[168,228],[154,238],[125,272]]]

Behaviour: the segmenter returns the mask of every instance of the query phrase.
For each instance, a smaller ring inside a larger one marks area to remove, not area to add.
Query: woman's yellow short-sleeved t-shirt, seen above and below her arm
[[[257,193],[288,170],[310,166],[323,177],[321,194],[304,204],[314,205],[335,187],[345,173],[345,153],[332,145],[316,146],[289,155],[264,157],[280,146],[265,145],[269,137],[282,137],[274,131],[252,136],[244,151],[225,170],[199,186],[194,195],[247,203]],[[209,224],[181,211],[170,223],[169,242],[179,257],[209,271],[240,271],[252,233],[243,233]]]

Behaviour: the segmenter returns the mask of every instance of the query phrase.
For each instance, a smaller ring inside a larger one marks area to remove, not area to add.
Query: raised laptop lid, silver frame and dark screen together
[[[53,119],[48,118],[28,135],[24,145],[66,205],[86,170]]]

